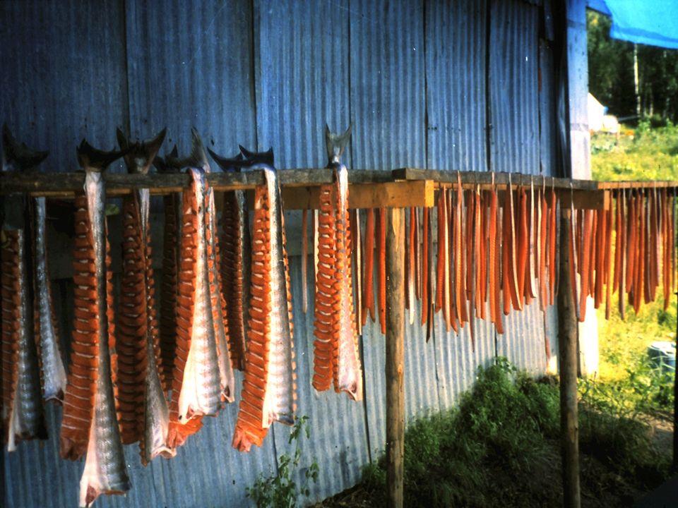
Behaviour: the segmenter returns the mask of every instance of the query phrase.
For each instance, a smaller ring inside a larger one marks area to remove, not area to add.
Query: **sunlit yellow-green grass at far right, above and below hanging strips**
[[[593,135],[591,170],[595,180],[678,180],[678,127],[650,129],[641,122],[635,131],[622,128],[619,139]],[[647,356],[653,341],[675,340],[675,296],[667,311],[663,304],[660,291],[657,301],[643,306],[637,316],[627,308],[625,321],[616,311],[610,320],[598,311],[599,371],[581,383],[581,392],[593,404],[630,418],[672,411],[672,379],[658,375]]]

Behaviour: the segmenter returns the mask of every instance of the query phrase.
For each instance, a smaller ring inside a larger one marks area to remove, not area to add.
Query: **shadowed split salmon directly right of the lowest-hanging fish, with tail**
[[[130,174],[148,174],[165,139],[131,141],[117,130]],[[117,386],[123,444],[139,442],[141,464],[176,454],[167,447],[169,412],[162,387],[160,331],[155,315],[155,282],[150,242],[150,191],[136,189],[122,205],[122,280],[117,320]]]

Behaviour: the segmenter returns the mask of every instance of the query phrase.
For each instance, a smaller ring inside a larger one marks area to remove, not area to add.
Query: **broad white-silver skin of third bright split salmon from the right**
[[[179,394],[180,423],[186,423],[194,416],[215,415],[221,406],[221,372],[213,325],[207,256],[205,172],[203,169],[195,168],[189,171],[191,178],[196,182],[198,255],[191,348],[186,359],[182,390]]]

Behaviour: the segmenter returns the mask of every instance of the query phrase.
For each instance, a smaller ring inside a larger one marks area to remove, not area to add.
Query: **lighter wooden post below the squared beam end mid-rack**
[[[386,223],[386,507],[403,507],[405,454],[405,210]]]

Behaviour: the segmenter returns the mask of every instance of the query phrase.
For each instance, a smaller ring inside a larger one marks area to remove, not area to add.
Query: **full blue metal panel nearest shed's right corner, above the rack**
[[[493,0],[490,24],[492,171],[538,174],[539,9],[518,0]]]

